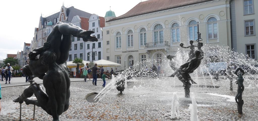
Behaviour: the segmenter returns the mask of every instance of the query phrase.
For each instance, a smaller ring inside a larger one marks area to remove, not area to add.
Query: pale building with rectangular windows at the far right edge
[[[247,58],[257,60],[258,1],[233,0],[230,6],[233,49],[247,54]]]

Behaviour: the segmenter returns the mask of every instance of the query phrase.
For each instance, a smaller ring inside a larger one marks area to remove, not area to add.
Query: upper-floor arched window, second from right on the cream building
[[[197,22],[195,20],[191,20],[189,22],[189,39],[190,40],[196,40],[198,39],[198,34],[197,34]]]

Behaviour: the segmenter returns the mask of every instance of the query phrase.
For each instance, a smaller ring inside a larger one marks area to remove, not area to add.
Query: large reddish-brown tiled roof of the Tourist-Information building
[[[147,13],[163,11],[167,9],[172,9],[172,8],[177,8],[177,7],[182,7],[182,6],[192,5],[192,4],[203,3],[207,1],[213,1],[213,0],[162,0],[162,1],[148,0],[148,1],[138,3],[127,13],[120,15],[119,17],[116,17],[109,21],[129,18],[137,15],[143,15]]]

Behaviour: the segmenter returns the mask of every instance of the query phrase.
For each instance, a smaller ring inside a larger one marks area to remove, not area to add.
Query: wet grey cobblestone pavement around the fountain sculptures
[[[195,79],[194,79],[195,80]],[[237,103],[229,101],[237,93],[237,84],[233,83],[233,91],[229,91],[229,80],[197,79],[198,85],[190,88],[198,104],[198,117],[200,121],[219,120],[258,120],[258,87],[247,88],[250,83],[257,80],[245,80],[243,92],[243,116],[237,113]],[[107,84],[110,80],[107,80]],[[102,97],[98,103],[85,100],[85,95],[91,92],[100,92],[102,81],[93,86],[89,82],[71,82],[70,107],[59,116],[60,120],[171,120],[171,102],[173,92],[178,94],[181,120],[190,120],[188,110],[191,98],[184,98],[182,83],[177,78],[169,79],[133,79],[128,82],[128,88],[122,95],[117,90],[111,90]],[[142,88],[139,88],[139,86]],[[220,86],[219,88],[206,88],[201,85]],[[136,86],[136,90],[133,90]],[[19,94],[28,86],[15,86],[2,88],[2,112],[0,120],[19,120],[19,103],[14,103]],[[208,93],[222,94],[215,96]],[[229,98],[223,97],[229,95]],[[22,119],[33,120],[33,105],[22,104]],[[43,109],[36,107],[35,120],[52,120]]]

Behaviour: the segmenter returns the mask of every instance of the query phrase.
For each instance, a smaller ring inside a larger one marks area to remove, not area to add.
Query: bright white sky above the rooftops
[[[64,6],[95,13],[104,17],[106,12],[115,12],[116,17],[125,14],[138,3],[146,0],[44,0],[44,1],[0,1],[0,60],[6,54],[17,54],[25,43],[31,43],[34,28],[38,28],[39,17],[49,16],[60,11]]]

